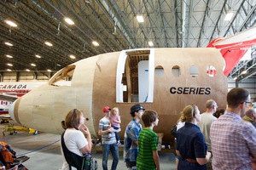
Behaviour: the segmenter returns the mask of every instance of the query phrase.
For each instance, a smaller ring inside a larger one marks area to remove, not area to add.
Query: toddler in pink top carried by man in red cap
[[[121,144],[120,143],[120,139],[119,139],[119,128],[120,128],[120,123],[121,123],[121,118],[119,116],[119,108],[114,107],[111,111],[111,115],[110,115],[110,122],[111,122],[111,127],[113,127],[114,130],[116,130],[115,133],[115,139],[117,141],[117,144]]]

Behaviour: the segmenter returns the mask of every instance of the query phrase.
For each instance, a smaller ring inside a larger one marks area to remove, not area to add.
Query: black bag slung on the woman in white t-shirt
[[[64,131],[65,133],[66,131]],[[78,170],[87,170],[88,167],[85,167],[85,159],[88,159],[88,155],[79,156],[72,151],[67,149],[67,146],[64,142],[64,133],[61,134],[61,147],[63,150],[64,157],[69,165],[69,169],[71,167],[76,167]],[[90,156],[90,170],[97,169],[97,161],[96,158]]]

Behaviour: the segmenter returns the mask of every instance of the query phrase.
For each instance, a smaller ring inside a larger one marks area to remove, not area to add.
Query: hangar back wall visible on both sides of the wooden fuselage
[[[31,82],[40,81],[47,82],[55,72],[49,71],[3,71],[0,72],[0,82]],[[252,101],[256,101],[256,78],[247,78],[242,82],[236,82],[233,78],[228,78],[228,90],[231,88],[246,88],[252,97]]]

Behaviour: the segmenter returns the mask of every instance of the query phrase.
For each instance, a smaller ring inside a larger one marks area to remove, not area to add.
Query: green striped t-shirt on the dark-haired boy
[[[153,150],[157,150],[157,134],[151,128],[143,128],[139,134],[138,143],[137,169],[155,170]]]

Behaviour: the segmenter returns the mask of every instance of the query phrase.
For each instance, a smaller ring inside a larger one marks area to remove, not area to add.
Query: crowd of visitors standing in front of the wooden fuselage
[[[200,114],[197,105],[186,105],[181,111],[175,136],[177,170],[256,169],[256,112],[251,97],[243,88],[233,88],[226,96],[227,107],[218,109],[217,102],[209,99],[206,111]],[[98,134],[102,136],[102,168],[108,169],[108,154],[119,163],[119,108],[105,106],[99,122]],[[157,151],[158,113],[131,106],[131,122],[125,127],[124,161],[129,170],[158,170],[160,158]],[[143,121],[144,126],[140,123]],[[80,156],[90,153],[91,139],[84,125],[83,113],[69,111],[65,120],[64,140],[67,149]],[[86,138],[84,137],[84,134]],[[67,169],[64,161],[62,169]]]

